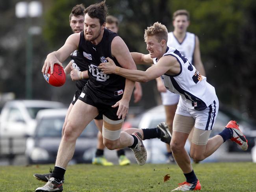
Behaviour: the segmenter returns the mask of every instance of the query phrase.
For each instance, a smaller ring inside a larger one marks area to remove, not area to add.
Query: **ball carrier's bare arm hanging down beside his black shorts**
[[[113,39],[111,43],[111,54],[117,59],[118,63],[123,68],[136,69],[136,65],[132,59],[129,49],[124,41],[121,39],[121,37],[115,37]],[[115,105],[113,105],[113,107],[119,106],[117,111],[117,116],[119,118],[125,118],[126,113],[128,112],[129,102],[132,96],[132,91],[134,89],[134,83],[135,82],[126,79],[122,99]]]

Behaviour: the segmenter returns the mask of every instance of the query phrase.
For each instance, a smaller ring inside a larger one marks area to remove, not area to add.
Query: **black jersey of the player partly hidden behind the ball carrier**
[[[79,71],[88,70],[88,65],[86,64],[85,60],[83,59],[83,54],[81,54],[78,50],[75,50],[70,55],[72,61],[72,67]],[[83,87],[87,83],[88,79],[80,79],[76,81],[76,89],[82,92]]]

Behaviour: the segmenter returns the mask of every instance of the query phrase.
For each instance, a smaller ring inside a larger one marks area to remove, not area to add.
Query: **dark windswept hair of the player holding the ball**
[[[98,18],[100,20],[100,25],[106,22],[106,17],[108,15],[108,7],[106,6],[106,1],[90,5],[84,10],[84,15],[88,13],[91,18]]]

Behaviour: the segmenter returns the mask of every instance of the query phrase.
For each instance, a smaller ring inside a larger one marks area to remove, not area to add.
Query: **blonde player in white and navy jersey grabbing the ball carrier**
[[[200,190],[200,182],[184,149],[193,127],[195,128],[190,156],[195,161],[202,161],[210,156],[227,139],[236,142],[242,150],[247,150],[247,140],[235,121],[230,121],[221,133],[209,139],[218,113],[218,98],[214,87],[178,50],[167,46],[167,28],[163,24],[156,22],[148,27],[144,38],[149,54],[132,53],[132,57],[136,64],[152,64],[154,58],[156,65],[146,71],[128,70],[116,66],[113,60],[107,58],[108,63],[101,63],[100,68],[106,74],[114,73],[139,82],[147,82],[161,76],[165,87],[180,95],[173,122],[171,150],[186,181],[180,183],[173,191]]]

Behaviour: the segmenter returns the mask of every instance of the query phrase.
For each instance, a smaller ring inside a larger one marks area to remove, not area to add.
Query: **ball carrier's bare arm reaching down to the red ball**
[[[48,72],[49,67],[51,67],[52,74],[54,63],[58,63],[62,66],[61,63],[65,61],[74,50],[78,48],[79,40],[80,33],[74,33],[67,38],[65,44],[61,48],[59,48],[58,51],[48,54],[42,68],[43,74]]]

